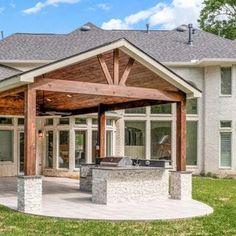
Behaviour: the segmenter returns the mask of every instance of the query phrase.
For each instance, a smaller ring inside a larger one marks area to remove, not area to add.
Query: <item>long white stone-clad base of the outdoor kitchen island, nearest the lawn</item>
[[[93,169],[92,201],[98,204],[168,199],[169,173],[164,168],[98,167]]]

